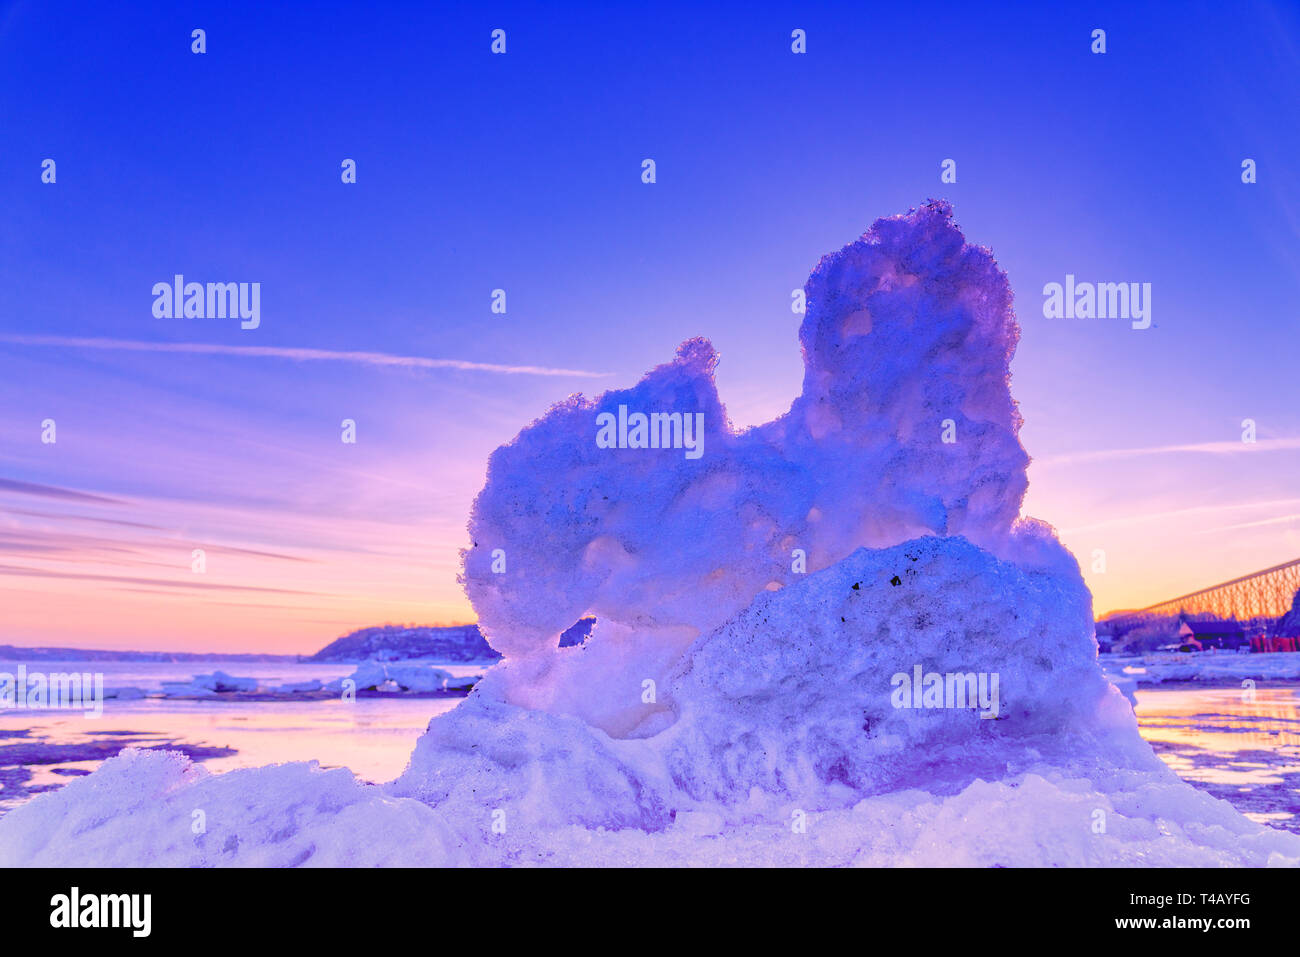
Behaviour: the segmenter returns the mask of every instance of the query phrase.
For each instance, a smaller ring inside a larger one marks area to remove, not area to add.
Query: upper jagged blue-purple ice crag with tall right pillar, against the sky
[[[632,389],[571,397],[493,454],[464,581],[494,648],[550,657],[590,614],[606,645],[680,653],[793,580],[794,549],[815,571],[922,534],[994,549],[1009,534],[1028,459],[1008,387],[1019,330],[992,256],[935,203],[823,259],[806,295],[803,391],[780,419],[732,430],[718,355],[692,339]],[[702,413],[702,456],[598,447],[597,416],[620,406]]]

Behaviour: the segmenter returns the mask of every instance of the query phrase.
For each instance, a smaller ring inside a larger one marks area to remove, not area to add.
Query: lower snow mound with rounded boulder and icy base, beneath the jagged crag
[[[638,736],[511,705],[498,670],[391,792],[459,822],[482,865],[1300,863],[1300,839],[1156,758],[1088,607],[963,538],[863,549],[694,642]],[[978,680],[970,707],[894,707],[918,664],[997,675],[997,716]]]

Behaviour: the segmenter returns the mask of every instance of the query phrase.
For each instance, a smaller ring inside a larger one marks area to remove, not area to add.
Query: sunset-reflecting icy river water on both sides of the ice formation
[[[195,670],[221,668],[268,683],[325,681],[351,672],[347,664],[222,662],[95,667],[105,671],[109,687],[148,690],[161,688],[162,680],[188,679]],[[1143,736],[1182,778],[1254,820],[1300,832],[1300,683],[1260,681],[1253,696],[1236,687],[1166,684],[1140,688],[1136,697]],[[98,719],[77,711],[0,711],[0,813],[88,774],[133,745],[186,750],[212,771],[315,758],[326,767],[350,767],[369,781],[386,781],[403,771],[429,719],[459,701],[147,697],[109,700]]]

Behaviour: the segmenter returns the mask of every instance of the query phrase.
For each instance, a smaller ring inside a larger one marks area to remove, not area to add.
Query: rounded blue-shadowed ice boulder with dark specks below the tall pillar
[[[822,809],[1096,754],[1128,707],[1091,625],[1080,583],[965,538],[861,549],[690,649],[668,693],[672,778],[724,805],[758,788]]]

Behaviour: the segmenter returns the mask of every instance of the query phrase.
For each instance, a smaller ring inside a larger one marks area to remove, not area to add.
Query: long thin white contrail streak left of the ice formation
[[[140,342],[138,339],[79,338],[70,335],[0,335],[0,342],[17,346],[60,346],[62,348],[103,348],[127,352],[186,352],[191,355],[228,355],[251,359],[290,359],[292,361],[337,361],[359,365],[398,367],[407,369],[462,369],[467,372],[499,372],[511,376],[569,376],[603,378],[612,372],[558,369],[547,365],[503,365],[473,363],[464,359],[430,359],[422,355],[390,355],[389,352],[339,351],[329,348],[287,348],[282,346],[226,346],[211,342]]]

